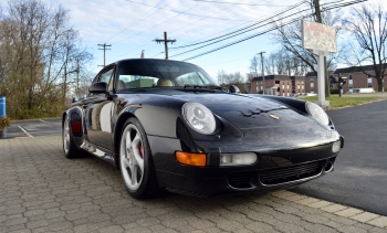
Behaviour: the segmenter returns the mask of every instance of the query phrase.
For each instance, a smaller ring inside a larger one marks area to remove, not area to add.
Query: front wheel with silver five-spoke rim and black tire
[[[158,186],[149,142],[137,118],[129,118],[119,140],[119,169],[127,192],[136,199],[155,198]]]

